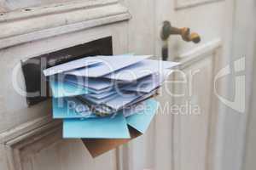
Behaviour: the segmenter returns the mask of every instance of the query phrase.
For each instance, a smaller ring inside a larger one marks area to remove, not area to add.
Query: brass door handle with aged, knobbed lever
[[[189,28],[177,28],[173,27],[169,21],[164,21],[164,26],[161,31],[162,40],[167,40],[170,35],[180,35],[185,42],[195,42],[198,43],[201,41],[201,37],[198,33],[190,33]]]

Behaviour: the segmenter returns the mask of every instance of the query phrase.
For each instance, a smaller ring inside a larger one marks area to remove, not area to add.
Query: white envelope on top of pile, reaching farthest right
[[[115,71],[106,75],[105,77],[113,80],[132,82],[142,77],[152,75],[156,72],[170,69],[177,65],[179,65],[177,62],[144,59],[142,62],[139,62],[135,65],[130,65],[119,71]]]

